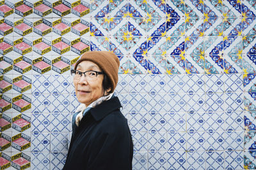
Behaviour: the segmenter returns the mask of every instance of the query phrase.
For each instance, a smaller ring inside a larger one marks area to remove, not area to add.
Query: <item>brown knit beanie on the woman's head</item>
[[[118,68],[120,65],[120,61],[115,53],[104,51],[85,52],[80,59],[77,60],[74,69],[76,69],[77,65],[84,60],[94,62],[100,69],[102,69],[111,82],[112,88],[110,93],[114,92],[118,82]]]

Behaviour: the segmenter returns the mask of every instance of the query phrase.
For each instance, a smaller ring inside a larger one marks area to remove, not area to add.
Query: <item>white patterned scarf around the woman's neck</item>
[[[93,103],[89,104],[87,107],[85,106],[85,104],[80,104],[76,110],[76,112],[79,112],[76,116],[76,125],[79,126],[79,123],[84,116],[83,115],[84,110],[86,110],[86,112],[87,112],[91,108],[94,108],[95,106],[99,105],[100,103],[102,103],[104,101],[108,101],[109,99],[111,99],[112,96],[113,96],[113,93],[109,94],[108,96],[102,96],[99,99],[97,99],[96,101],[93,101]]]

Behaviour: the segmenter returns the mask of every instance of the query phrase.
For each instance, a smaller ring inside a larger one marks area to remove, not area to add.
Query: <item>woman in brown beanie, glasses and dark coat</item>
[[[86,52],[71,71],[81,105],[72,117],[63,169],[132,169],[131,132],[113,96],[119,64],[112,52]]]

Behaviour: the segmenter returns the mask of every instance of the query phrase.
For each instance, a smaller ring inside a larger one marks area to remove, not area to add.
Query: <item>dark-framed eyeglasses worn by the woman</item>
[[[71,75],[73,76],[74,79],[79,79],[82,77],[82,74],[84,74],[84,77],[89,80],[89,81],[93,81],[97,79],[98,74],[104,74],[103,72],[100,71],[85,71],[85,72],[81,72],[78,71],[76,69],[72,69],[71,70]]]

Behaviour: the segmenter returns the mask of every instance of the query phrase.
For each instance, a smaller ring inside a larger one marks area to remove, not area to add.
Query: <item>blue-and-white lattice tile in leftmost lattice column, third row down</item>
[[[51,114],[32,113],[31,131],[36,133],[51,132]]]

